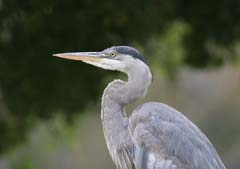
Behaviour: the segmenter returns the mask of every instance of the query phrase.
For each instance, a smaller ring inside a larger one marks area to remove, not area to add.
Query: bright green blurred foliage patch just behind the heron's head
[[[151,65],[164,75],[173,77],[184,64],[186,49],[183,41],[189,27],[183,22],[174,22],[164,29],[161,36],[152,37],[147,44],[145,53],[151,56]]]

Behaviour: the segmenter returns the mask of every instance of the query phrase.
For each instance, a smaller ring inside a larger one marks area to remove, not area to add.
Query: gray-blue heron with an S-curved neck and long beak
[[[99,52],[53,54],[60,58],[127,74],[105,88],[101,103],[103,134],[117,169],[225,169],[207,136],[185,115],[160,102],[125,107],[144,97],[152,73],[144,56],[130,46]]]

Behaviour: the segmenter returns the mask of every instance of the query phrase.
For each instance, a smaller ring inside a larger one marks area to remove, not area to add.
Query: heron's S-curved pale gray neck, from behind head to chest
[[[127,82],[114,80],[104,90],[101,118],[105,140],[113,161],[122,169],[131,169],[131,164],[126,160],[123,162],[121,157],[117,156],[117,151],[122,147],[126,147],[125,153],[130,153],[133,146],[127,145],[132,141],[127,130],[128,117],[124,108],[146,94],[152,75],[149,67],[142,61],[136,61],[124,72],[128,75]]]

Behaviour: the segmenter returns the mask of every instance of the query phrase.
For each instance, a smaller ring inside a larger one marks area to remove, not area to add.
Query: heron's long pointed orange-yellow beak
[[[83,62],[101,63],[105,54],[103,54],[102,52],[74,52],[74,53],[58,53],[53,54],[53,56]]]

